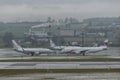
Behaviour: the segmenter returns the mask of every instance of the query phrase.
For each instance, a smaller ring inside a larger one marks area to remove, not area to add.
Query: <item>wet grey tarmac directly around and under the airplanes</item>
[[[21,57],[21,56],[30,56],[30,55],[16,52],[12,48],[0,49],[0,58]],[[40,56],[76,56],[76,55],[42,54],[42,55],[39,55],[39,57]],[[82,55],[79,55],[79,56],[82,56]],[[120,56],[120,48],[119,47],[118,48],[109,48],[108,50],[97,52],[97,53],[87,53],[86,56]],[[38,55],[36,55],[35,57],[38,57]]]

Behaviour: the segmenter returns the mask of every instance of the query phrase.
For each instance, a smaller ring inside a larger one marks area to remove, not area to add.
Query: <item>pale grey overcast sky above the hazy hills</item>
[[[120,0],[0,0],[0,21],[120,16]]]

